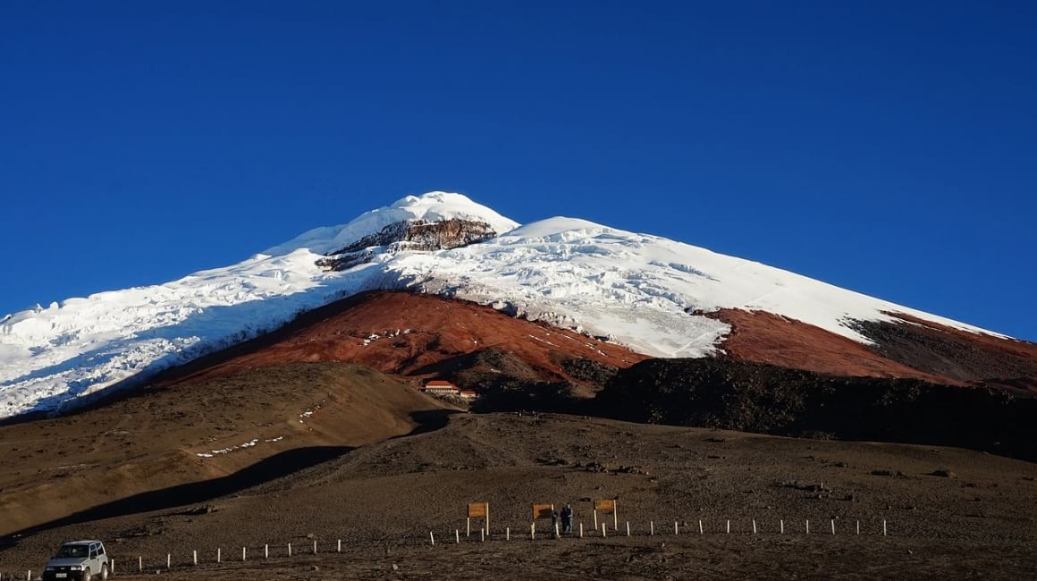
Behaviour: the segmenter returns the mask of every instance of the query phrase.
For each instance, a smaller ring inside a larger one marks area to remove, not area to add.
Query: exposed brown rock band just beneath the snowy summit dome
[[[344,271],[368,262],[374,255],[372,249],[385,248],[389,252],[417,250],[430,252],[468,246],[498,234],[486,222],[450,219],[439,222],[413,220],[389,224],[373,234],[366,236],[353,244],[328,253],[317,266]]]

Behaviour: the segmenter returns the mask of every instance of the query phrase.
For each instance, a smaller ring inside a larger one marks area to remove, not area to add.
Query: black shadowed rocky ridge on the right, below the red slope
[[[595,399],[594,413],[781,436],[959,446],[1037,460],[1034,397],[731,359],[651,359],[620,369]]]

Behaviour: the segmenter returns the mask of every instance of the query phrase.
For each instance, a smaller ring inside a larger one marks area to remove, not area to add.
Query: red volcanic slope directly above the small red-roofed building
[[[561,362],[588,358],[626,367],[647,356],[579,333],[435,295],[364,293],[302,315],[258,339],[201,358],[175,378],[234,374],[284,363],[346,361],[389,374],[422,375],[444,360],[486,348],[522,359],[545,380],[569,379]]]

